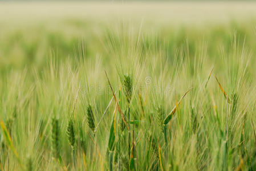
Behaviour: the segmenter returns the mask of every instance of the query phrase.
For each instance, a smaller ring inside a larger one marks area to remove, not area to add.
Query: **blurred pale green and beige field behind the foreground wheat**
[[[170,56],[184,42],[193,53],[201,40],[214,56],[234,31],[256,51],[255,21],[254,1],[0,1],[0,70],[44,67],[51,52],[72,59],[80,41],[88,58],[104,56],[106,36],[124,24],[154,34]]]

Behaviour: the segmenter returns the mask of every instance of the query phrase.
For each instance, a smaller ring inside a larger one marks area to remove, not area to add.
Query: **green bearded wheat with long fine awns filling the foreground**
[[[170,54],[156,36],[130,33],[108,32],[103,58],[86,56],[82,42],[74,59],[53,54],[43,69],[6,72],[0,170],[256,168],[245,44],[234,35],[214,59],[204,41]]]

